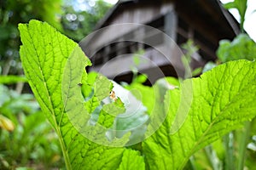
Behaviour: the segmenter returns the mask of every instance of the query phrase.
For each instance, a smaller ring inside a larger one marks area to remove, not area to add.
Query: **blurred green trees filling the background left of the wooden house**
[[[0,74],[22,74],[19,23],[43,20],[79,42],[110,7],[102,0],[0,0]]]

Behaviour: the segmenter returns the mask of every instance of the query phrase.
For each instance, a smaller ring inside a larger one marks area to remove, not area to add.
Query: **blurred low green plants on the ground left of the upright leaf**
[[[26,82],[4,76],[0,83]],[[61,167],[61,149],[55,132],[32,94],[19,94],[0,84],[0,168]]]

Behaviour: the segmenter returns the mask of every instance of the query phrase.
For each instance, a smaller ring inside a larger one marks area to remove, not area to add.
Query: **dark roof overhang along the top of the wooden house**
[[[119,14],[120,11],[139,5],[142,3],[160,4],[172,2],[175,4],[177,13],[183,15],[187,20],[197,20],[197,22],[211,22],[212,29],[218,29],[223,37],[232,38],[239,33],[239,24],[235,18],[223,8],[219,0],[119,0],[108,14],[96,25],[95,30],[108,26],[110,21]]]

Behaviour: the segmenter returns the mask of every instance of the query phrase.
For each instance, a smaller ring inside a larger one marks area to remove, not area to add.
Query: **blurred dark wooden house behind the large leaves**
[[[218,0],[119,0],[98,23],[96,32],[80,46],[94,65],[90,70],[100,71],[117,82],[131,81],[132,55],[144,49],[144,58],[152,62],[136,66],[154,82],[161,77],[155,69],[160,69],[165,76],[182,76],[184,72],[181,54],[163,35],[171,37],[177,45],[192,39],[200,47],[191,63],[195,68],[216,59],[218,41],[233,39],[237,33],[236,20]]]

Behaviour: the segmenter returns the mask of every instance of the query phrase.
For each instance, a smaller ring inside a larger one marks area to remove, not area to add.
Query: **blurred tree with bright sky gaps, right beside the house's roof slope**
[[[65,34],[76,42],[81,41],[93,31],[96,23],[102,19],[111,6],[110,3],[102,0],[64,1],[65,14],[61,16],[61,24]]]

